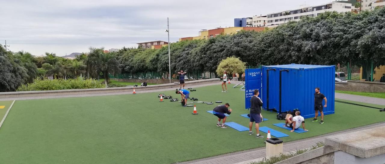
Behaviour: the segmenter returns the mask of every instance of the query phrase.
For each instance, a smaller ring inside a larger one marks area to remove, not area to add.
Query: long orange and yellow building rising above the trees
[[[195,39],[208,39],[208,38],[214,38],[218,35],[231,35],[238,33],[238,31],[246,30],[246,31],[263,31],[264,27],[219,27],[211,30],[201,30],[198,32],[198,36],[194,37],[186,37],[186,38],[180,38],[179,41],[184,40],[195,40]]]

